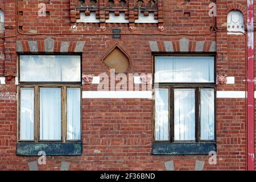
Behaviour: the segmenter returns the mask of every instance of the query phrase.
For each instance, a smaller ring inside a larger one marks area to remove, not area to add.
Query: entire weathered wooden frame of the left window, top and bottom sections
[[[80,56],[80,72],[82,74],[81,53],[20,53],[18,55],[18,71],[20,73],[20,55],[42,56]],[[22,82],[18,75],[18,142],[42,143],[76,143],[82,141],[82,77],[79,82]],[[20,88],[34,88],[34,140],[20,140]],[[61,88],[61,140],[40,140],[40,88]],[[80,88],[80,139],[67,140],[67,88]]]

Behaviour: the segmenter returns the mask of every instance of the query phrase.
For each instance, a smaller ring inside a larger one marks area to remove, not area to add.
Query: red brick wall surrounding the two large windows
[[[71,34],[69,1],[55,0],[47,3],[49,16],[38,17],[38,3],[48,1],[19,1],[18,25],[23,34]],[[208,34],[213,18],[208,15],[211,1],[164,1],[164,34]],[[246,1],[217,1],[217,28],[225,30],[228,6],[246,7]],[[0,0],[3,4],[3,1]],[[3,6],[3,5],[2,5]],[[1,6],[0,6],[1,7]],[[15,1],[5,0],[5,36],[15,36]],[[184,16],[190,12],[191,17]],[[127,34],[160,34],[154,24],[137,26],[129,31],[127,24],[107,25],[104,33],[112,28],[121,28]],[[243,35],[227,35],[213,31],[211,35],[122,35],[114,40],[110,35],[81,35],[102,33],[99,24],[82,24],[77,35],[23,35],[0,39],[0,53],[5,51],[5,61],[0,60],[0,76],[9,76],[6,85],[0,85],[0,169],[28,170],[28,162],[36,157],[16,156],[17,100],[16,85],[16,40],[43,41],[48,37],[61,41],[85,41],[82,53],[82,72],[94,74],[108,72],[100,63],[100,57],[115,43],[121,44],[133,59],[131,73],[152,73],[152,55],[148,41],[164,40],[178,42],[187,38],[195,41],[216,41],[217,72],[236,78],[236,84],[218,85],[217,90],[245,90],[245,38]],[[79,35],[80,34],[80,35]],[[0,35],[2,36],[2,35]],[[59,43],[58,43],[59,42]],[[5,44],[3,44],[5,43]],[[194,45],[195,46],[195,45]],[[5,69],[4,69],[5,68]],[[97,85],[84,85],[83,90],[96,90]],[[82,144],[81,156],[48,156],[41,170],[58,170],[60,162],[71,163],[71,170],[96,169],[142,169],[164,170],[164,162],[174,160],[175,170],[193,170],[196,160],[205,162],[205,170],[246,169],[245,100],[236,98],[217,99],[217,165],[208,163],[207,155],[152,156],[152,102],[146,99],[83,99],[82,100]],[[256,138],[255,138],[256,141]],[[95,150],[99,150],[100,153]]]

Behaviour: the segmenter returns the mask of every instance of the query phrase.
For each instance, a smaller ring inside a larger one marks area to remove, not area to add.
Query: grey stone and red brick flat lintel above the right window
[[[151,52],[216,52],[215,41],[149,41]]]

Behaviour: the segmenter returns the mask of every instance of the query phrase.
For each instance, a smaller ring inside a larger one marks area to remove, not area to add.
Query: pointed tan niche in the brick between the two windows
[[[115,69],[115,73],[127,73],[131,68],[131,55],[119,44],[115,44],[101,57],[107,69]]]

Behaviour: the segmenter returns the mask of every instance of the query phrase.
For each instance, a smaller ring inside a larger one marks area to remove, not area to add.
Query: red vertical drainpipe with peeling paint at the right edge
[[[247,170],[254,171],[254,8],[247,0]]]

